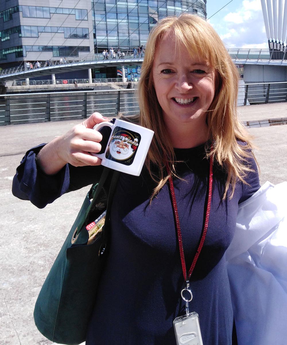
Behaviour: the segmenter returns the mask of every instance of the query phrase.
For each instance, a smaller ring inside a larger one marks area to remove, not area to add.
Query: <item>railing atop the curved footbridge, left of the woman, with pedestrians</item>
[[[98,54],[88,54],[88,55],[80,55],[80,56],[75,56],[75,57],[68,57],[65,58],[52,58],[47,61],[33,61],[31,62],[31,67],[28,67],[26,63],[28,62],[27,60],[25,62],[22,62],[20,66],[13,67],[13,68],[8,68],[0,71],[0,76],[5,76],[8,74],[13,74],[13,73],[19,73],[19,72],[24,72],[24,71],[36,71],[39,69],[51,69],[51,67],[65,67],[66,65],[72,65],[72,64],[79,64],[79,63],[84,63],[84,62],[92,62],[92,61],[106,61],[106,62],[119,62],[123,63],[125,60],[127,61],[142,61],[144,57],[144,52],[143,53],[134,53],[133,51],[126,51],[126,52],[121,52],[121,55],[117,55],[117,52],[115,52],[115,56],[108,55],[108,57],[103,57],[102,53]]]

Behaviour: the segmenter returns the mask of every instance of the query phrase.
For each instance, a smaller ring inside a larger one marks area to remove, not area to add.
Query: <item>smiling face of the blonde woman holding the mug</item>
[[[206,111],[215,94],[215,70],[207,61],[176,46],[167,32],[156,47],[153,85],[167,128],[200,125],[207,131]]]

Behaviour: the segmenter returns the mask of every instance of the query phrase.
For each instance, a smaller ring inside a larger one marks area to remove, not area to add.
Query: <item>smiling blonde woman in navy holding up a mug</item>
[[[259,189],[250,142],[236,116],[237,85],[238,72],[205,20],[183,14],[158,22],[146,45],[134,119],[155,131],[154,140],[141,176],[121,174],[115,191],[111,250],[87,345],[176,344],[173,320],[186,313],[184,263],[187,271],[195,264],[186,278],[193,293],[189,311],[199,315],[203,344],[236,342],[224,253],[238,204]],[[100,151],[102,136],[92,128],[105,120],[94,113],[28,151],[13,193],[44,207],[94,182],[101,161],[89,152]]]

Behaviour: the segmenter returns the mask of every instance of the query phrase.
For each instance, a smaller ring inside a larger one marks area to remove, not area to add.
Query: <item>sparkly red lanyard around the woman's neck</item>
[[[212,172],[212,166],[213,166],[213,159],[212,156],[209,159],[209,184],[208,184],[208,199],[207,199],[207,207],[206,207],[206,213],[205,213],[205,221],[204,221],[204,228],[201,236],[200,243],[198,245],[196,254],[194,256],[193,262],[191,264],[191,267],[188,271],[188,276],[186,275],[186,265],[185,265],[185,258],[184,258],[184,252],[183,252],[183,243],[182,243],[182,236],[181,236],[181,227],[180,227],[180,219],[178,217],[178,211],[177,211],[177,204],[176,204],[176,198],[174,193],[174,187],[173,187],[173,180],[172,175],[169,177],[169,185],[170,185],[170,191],[172,196],[172,207],[173,207],[173,213],[175,217],[175,224],[177,229],[177,238],[178,238],[178,245],[180,247],[180,256],[181,256],[181,264],[182,264],[182,272],[185,282],[188,282],[190,279],[192,272],[194,270],[195,264],[197,262],[197,259],[199,257],[199,254],[201,252],[201,249],[203,247],[203,243],[205,240],[207,227],[208,227],[208,220],[209,220],[209,214],[210,214],[210,205],[211,205],[211,197],[212,197],[212,181],[213,181],[213,172]],[[167,172],[170,173],[170,167],[167,166]]]

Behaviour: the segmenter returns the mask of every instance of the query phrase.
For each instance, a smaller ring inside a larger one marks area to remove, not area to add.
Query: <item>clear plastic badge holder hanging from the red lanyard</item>
[[[175,318],[173,326],[177,345],[203,345],[197,313]]]

